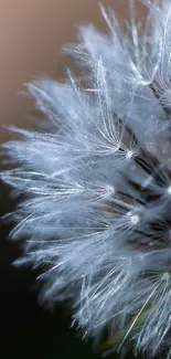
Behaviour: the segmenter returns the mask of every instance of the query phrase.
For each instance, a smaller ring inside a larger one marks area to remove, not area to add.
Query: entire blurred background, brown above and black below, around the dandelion
[[[101,3],[128,17],[128,0]],[[139,17],[145,17],[142,6],[138,0],[135,3]],[[23,84],[41,75],[63,80],[70,59],[61,55],[62,46],[75,42],[77,27],[89,22],[106,30],[98,0],[0,0],[0,142],[9,139],[2,125],[31,126],[34,105],[18,94]],[[10,189],[1,183],[1,214],[15,204]],[[85,344],[70,328],[68,307],[42,307],[35,273],[11,265],[21,253],[8,239],[11,229],[12,224],[1,221],[0,358],[100,358],[92,342]]]

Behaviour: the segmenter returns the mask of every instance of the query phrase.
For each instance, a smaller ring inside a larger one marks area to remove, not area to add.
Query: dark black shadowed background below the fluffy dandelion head
[[[1,215],[14,209],[10,190],[1,183]],[[8,239],[12,224],[1,221],[0,234],[0,358],[99,358],[71,328],[68,309],[49,310],[39,303],[35,273],[11,263],[21,254]]]

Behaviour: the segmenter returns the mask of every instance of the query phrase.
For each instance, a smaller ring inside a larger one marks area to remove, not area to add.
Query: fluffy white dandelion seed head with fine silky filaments
[[[43,298],[70,298],[85,337],[170,358],[171,2],[143,3],[146,24],[130,1],[129,24],[100,6],[108,33],[79,29],[79,77],[26,85],[49,129],[12,127],[1,177],[24,194],[11,237]]]

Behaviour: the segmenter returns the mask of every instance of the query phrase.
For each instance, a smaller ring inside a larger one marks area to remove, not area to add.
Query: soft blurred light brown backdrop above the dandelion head
[[[128,0],[101,3],[128,13]],[[62,77],[62,45],[75,41],[76,25],[88,22],[103,25],[98,0],[0,0],[0,125],[26,125],[30,104],[18,96],[22,84],[41,74]],[[0,140],[6,137],[1,129]]]

